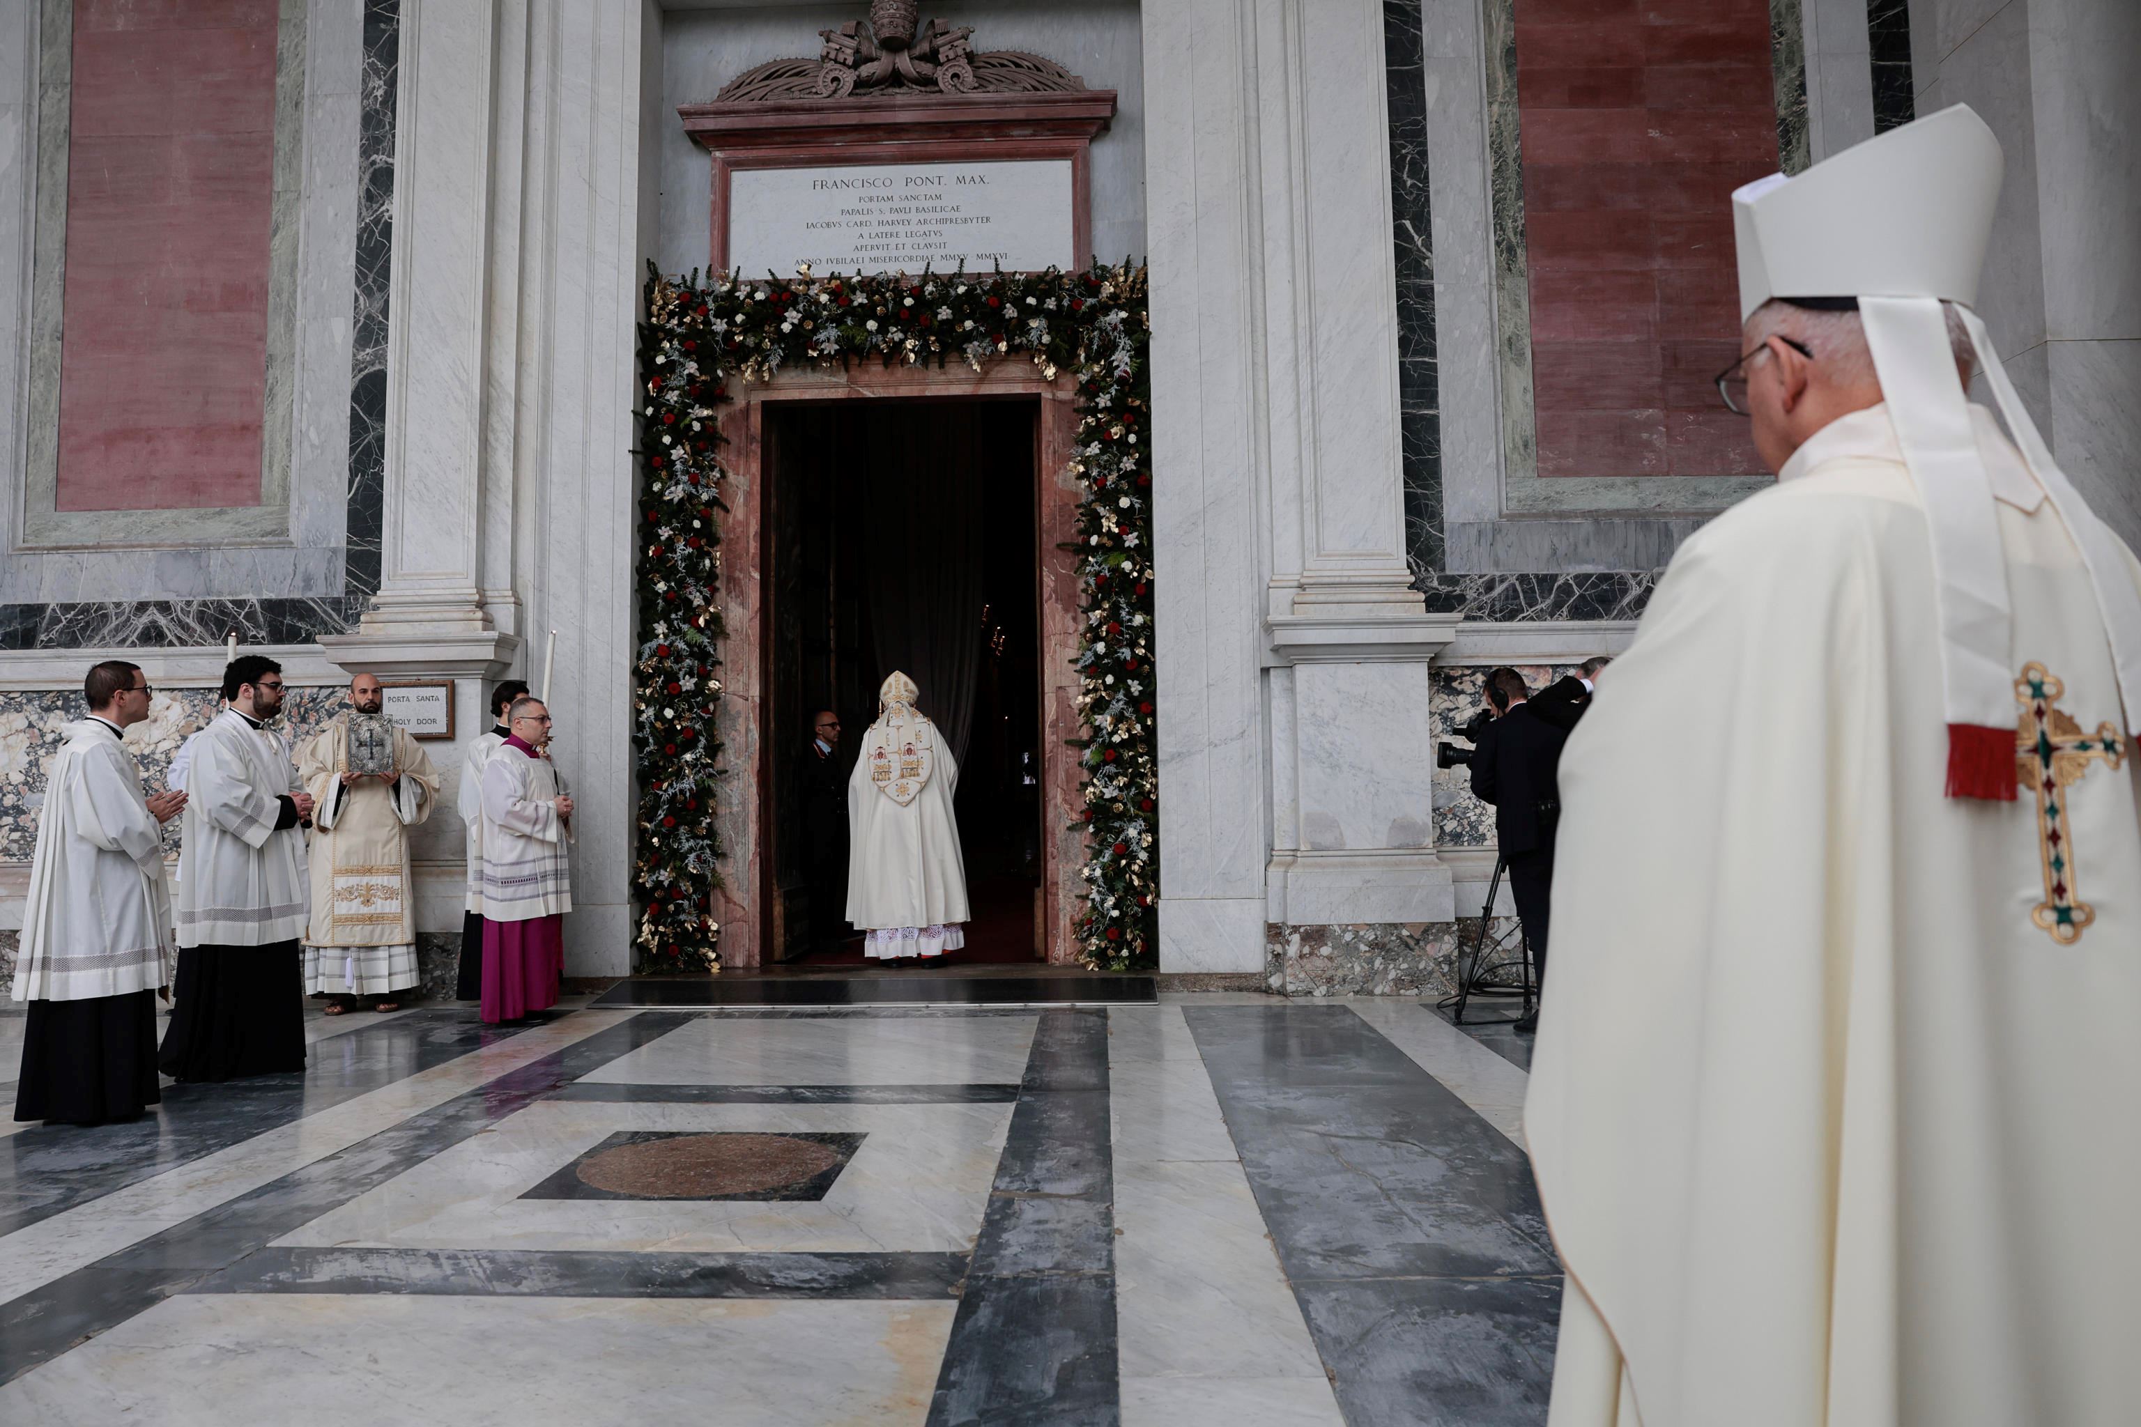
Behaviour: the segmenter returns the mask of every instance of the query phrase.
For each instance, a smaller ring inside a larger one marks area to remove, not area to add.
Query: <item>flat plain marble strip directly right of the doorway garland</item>
[[[1263,543],[1248,6],[1139,11],[1152,259],[1160,969],[1263,967]]]

